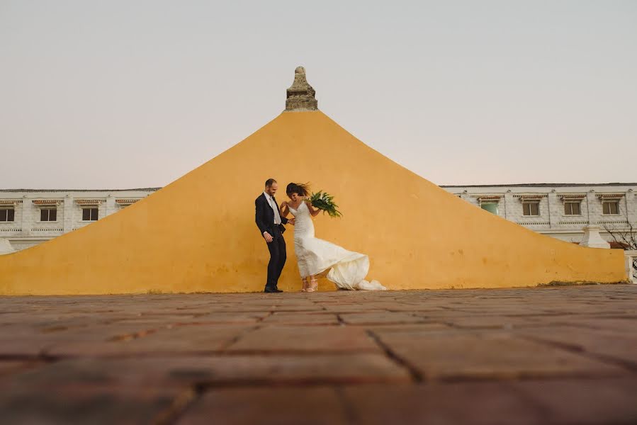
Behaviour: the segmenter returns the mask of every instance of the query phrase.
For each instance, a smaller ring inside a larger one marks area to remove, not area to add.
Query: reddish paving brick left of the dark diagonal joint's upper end
[[[380,351],[364,329],[264,327],[244,334],[229,351]]]

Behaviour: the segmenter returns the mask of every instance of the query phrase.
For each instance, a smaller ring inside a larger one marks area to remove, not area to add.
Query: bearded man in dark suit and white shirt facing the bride
[[[281,276],[283,266],[286,263],[286,240],[283,239],[283,232],[286,228],[283,225],[294,225],[294,219],[288,220],[281,217],[278,212],[278,204],[274,194],[278,189],[278,184],[274,179],[266,181],[266,189],[259,198],[254,201],[257,209],[256,221],[261,236],[266,239],[268,250],[270,251],[270,262],[268,263],[268,279],[266,280],[266,293],[280,293],[282,290],[276,287],[278,278]]]

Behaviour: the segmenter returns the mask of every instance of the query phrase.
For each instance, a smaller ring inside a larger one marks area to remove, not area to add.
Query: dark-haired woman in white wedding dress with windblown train
[[[327,279],[339,289],[385,290],[377,280],[364,280],[369,270],[369,258],[365,254],[347,251],[341,246],[314,237],[312,217],[318,215],[308,200],[307,184],[290,183],[286,188],[289,201],[281,203],[281,217],[291,212],[294,225],[294,251],[298,270],[303,279],[303,292],[318,288],[316,275],[329,269]]]

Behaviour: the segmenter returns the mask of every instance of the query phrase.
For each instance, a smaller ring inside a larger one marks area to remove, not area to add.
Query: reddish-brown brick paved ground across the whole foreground
[[[637,285],[0,297],[2,424],[636,424]]]

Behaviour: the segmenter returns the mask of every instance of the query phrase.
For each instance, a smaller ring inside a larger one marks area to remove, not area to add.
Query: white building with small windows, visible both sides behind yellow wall
[[[476,208],[566,242],[581,242],[588,225],[599,225],[608,242],[614,239],[605,229],[637,232],[637,183],[441,187]],[[19,251],[72,232],[158,189],[0,189],[0,249]]]

